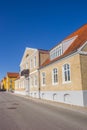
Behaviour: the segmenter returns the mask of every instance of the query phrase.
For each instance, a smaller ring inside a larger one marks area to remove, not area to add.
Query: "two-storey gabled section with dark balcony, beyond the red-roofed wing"
[[[39,97],[39,67],[49,57],[46,50],[26,48],[20,63],[20,77],[15,81],[15,93]]]

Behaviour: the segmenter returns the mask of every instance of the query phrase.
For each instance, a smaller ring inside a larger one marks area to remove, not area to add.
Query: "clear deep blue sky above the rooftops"
[[[87,0],[1,0],[0,80],[18,72],[26,47],[51,49],[87,23]]]

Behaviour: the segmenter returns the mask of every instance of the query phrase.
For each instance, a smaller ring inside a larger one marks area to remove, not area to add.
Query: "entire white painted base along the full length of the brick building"
[[[33,98],[41,98],[71,105],[87,106],[87,91],[15,91],[17,94],[29,95]]]

